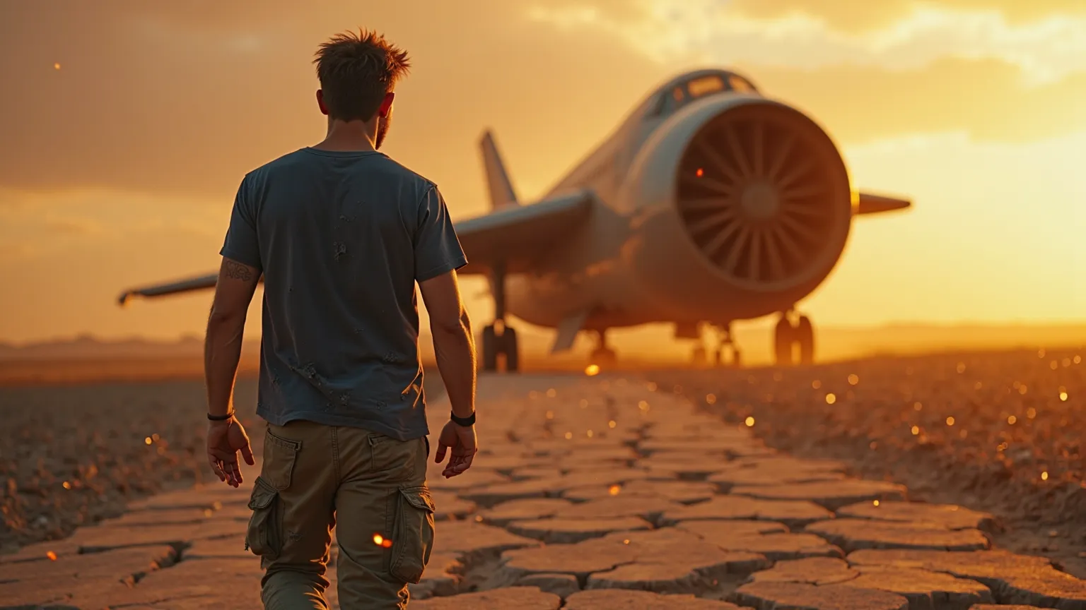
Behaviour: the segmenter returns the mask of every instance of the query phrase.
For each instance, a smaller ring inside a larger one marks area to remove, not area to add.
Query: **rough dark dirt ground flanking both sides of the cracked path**
[[[1006,528],[1000,546],[1051,557],[1083,576],[1084,355],[639,376],[727,421],[753,418],[755,434],[774,447],[844,459],[859,475],[907,485],[912,499],[994,512]],[[427,385],[435,395],[439,377],[429,374]],[[255,380],[242,379],[238,409],[258,436],[254,403]],[[206,481],[203,405],[197,380],[0,387],[0,549],[63,537],[139,497]]]

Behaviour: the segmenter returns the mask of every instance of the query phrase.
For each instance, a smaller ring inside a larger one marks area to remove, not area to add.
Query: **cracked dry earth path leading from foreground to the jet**
[[[909,503],[653,389],[483,378],[476,466],[445,480],[431,465],[437,542],[411,607],[1086,609],[1086,581],[993,549],[990,516]],[[433,429],[446,410],[431,406]],[[260,608],[247,499],[172,492],[4,556],[0,608]]]

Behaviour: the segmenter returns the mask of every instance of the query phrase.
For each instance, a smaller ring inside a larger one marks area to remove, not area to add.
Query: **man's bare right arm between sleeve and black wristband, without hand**
[[[449,402],[457,417],[470,417],[475,412],[476,350],[456,271],[419,282],[419,289],[430,314],[433,351]]]

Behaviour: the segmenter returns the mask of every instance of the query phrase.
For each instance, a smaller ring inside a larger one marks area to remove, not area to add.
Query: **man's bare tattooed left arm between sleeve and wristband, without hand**
[[[241,359],[245,316],[261,274],[257,269],[223,258],[215,284],[215,298],[207,316],[204,340],[204,379],[207,383],[207,409],[211,415],[231,410],[233,379]]]

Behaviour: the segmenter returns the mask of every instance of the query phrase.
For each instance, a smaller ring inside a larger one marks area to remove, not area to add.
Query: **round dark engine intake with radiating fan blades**
[[[747,290],[824,277],[851,224],[836,147],[781,104],[733,106],[706,122],[681,156],[677,188],[686,236],[712,268]]]

